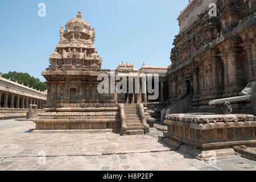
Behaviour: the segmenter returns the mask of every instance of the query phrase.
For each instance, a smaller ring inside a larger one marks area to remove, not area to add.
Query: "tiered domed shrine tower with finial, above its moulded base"
[[[97,75],[102,59],[94,46],[95,29],[77,18],[60,27],[60,42],[49,57],[49,67],[42,75],[47,80],[47,107],[70,107],[70,104],[98,103]],[[104,98],[102,98],[104,100]]]

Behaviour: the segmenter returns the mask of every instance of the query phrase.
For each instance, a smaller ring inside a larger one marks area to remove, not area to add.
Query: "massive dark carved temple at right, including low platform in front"
[[[237,150],[255,158],[255,5],[192,0],[181,11],[166,73],[170,104],[161,112],[168,125],[162,142],[203,160]]]

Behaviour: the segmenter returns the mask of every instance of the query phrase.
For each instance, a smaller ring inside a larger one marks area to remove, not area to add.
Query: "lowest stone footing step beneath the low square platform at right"
[[[223,148],[223,149],[217,149],[217,150],[200,150],[199,148],[188,146],[186,144],[177,142],[167,137],[159,136],[158,139],[160,142],[167,144],[168,146],[173,148],[175,151],[177,150],[177,151],[183,152],[199,160],[213,160],[214,158],[223,158],[223,157],[232,158],[236,154],[236,151],[234,151],[233,148]]]

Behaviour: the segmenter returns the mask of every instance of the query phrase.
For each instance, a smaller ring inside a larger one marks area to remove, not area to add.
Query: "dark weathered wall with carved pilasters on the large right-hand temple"
[[[190,3],[196,2],[201,1]],[[167,71],[170,104],[192,93],[196,111],[210,100],[238,96],[256,80],[255,1],[216,1],[216,5],[217,17],[210,17],[209,9],[200,12],[174,39]],[[181,15],[190,11],[188,6]]]

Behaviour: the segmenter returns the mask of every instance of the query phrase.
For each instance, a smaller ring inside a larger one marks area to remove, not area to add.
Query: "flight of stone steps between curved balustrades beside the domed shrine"
[[[136,104],[125,104],[127,135],[143,135],[143,123]]]

